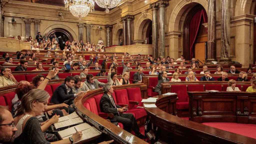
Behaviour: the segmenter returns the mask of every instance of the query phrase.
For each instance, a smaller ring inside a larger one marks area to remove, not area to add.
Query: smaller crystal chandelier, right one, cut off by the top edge
[[[95,0],[95,2],[102,8],[106,9],[106,13],[109,13],[109,9],[116,7],[122,0]]]

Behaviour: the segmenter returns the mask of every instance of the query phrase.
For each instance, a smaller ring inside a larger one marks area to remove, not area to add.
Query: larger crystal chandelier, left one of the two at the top
[[[85,17],[89,11],[94,11],[93,0],[65,0],[65,10],[70,11],[75,17]]]

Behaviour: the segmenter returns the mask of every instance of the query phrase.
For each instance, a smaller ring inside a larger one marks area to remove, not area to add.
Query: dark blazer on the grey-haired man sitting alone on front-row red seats
[[[100,99],[100,109],[102,112],[114,114],[114,117],[111,119],[111,121],[116,121],[116,117],[118,116],[117,108],[122,108],[122,107],[119,105],[116,105],[116,108],[115,108],[108,94],[103,94],[103,96]]]

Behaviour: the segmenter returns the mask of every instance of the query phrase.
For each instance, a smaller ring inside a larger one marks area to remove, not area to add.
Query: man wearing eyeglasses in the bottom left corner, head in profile
[[[0,143],[11,143],[14,141],[17,128],[8,108],[0,106]]]

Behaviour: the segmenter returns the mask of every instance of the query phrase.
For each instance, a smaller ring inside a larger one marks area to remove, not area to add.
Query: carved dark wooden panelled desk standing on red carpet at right
[[[256,124],[255,93],[193,91],[188,95],[191,121]]]

